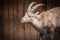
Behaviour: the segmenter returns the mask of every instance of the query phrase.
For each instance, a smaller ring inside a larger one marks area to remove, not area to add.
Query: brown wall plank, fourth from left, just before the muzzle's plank
[[[18,40],[18,12],[17,12],[17,0],[13,0],[13,22],[14,22],[14,25],[13,25],[13,40]]]

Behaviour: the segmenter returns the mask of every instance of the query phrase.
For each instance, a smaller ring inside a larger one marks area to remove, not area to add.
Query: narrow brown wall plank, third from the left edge
[[[13,0],[9,0],[8,7],[8,16],[9,16],[9,39],[13,40]]]

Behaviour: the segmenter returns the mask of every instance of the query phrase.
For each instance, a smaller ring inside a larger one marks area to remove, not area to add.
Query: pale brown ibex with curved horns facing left
[[[44,6],[44,4],[33,6],[35,3],[36,2],[32,2],[28,6],[25,16],[21,18],[21,22],[33,24],[42,34],[46,33],[46,28],[49,28],[51,33],[53,33],[55,28],[60,26],[60,7],[54,7],[41,13],[39,13],[39,11],[34,13],[34,10],[37,9],[38,6]],[[53,36],[51,35],[51,37]],[[40,36],[40,40],[42,40],[42,36]]]

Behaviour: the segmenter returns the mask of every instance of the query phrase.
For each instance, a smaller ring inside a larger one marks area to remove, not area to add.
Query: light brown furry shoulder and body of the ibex
[[[57,22],[60,23],[60,7],[41,12],[39,20],[43,22],[43,25],[49,27],[51,27],[52,25],[54,25],[55,27],[58,26]]]

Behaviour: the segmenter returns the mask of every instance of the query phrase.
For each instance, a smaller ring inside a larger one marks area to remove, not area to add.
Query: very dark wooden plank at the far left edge
[[[0,0],[0,40],[3,40],[3,1]]]

